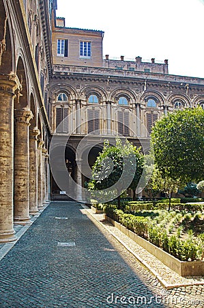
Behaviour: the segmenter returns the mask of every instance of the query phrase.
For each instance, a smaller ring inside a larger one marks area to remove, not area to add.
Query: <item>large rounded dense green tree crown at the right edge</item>
[[[183,183],[204,177],[204,111],[177,110],[158,120],[152,129],[151,145],[163,174]]]

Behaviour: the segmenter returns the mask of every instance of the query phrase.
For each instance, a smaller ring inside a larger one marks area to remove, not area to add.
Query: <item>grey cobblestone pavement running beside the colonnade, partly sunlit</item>
[[[74,202],[50,203],[0,261],[1,308],[204,307],[203,294],[164,290]]]

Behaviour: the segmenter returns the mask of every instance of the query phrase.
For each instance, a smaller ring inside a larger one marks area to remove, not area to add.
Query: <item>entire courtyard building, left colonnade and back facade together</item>
[[[168,60],[103,57],[104,32],[65,27],[56,0],[0,8],[0,242],[10,242],[14,223],[31,223],[48,198],[85,199],[105,139],[124,136],[146,153],[160,116],[204,107],[204,79],[169,75]],[[52,175],[53,138],[63,154],[54,149]]]

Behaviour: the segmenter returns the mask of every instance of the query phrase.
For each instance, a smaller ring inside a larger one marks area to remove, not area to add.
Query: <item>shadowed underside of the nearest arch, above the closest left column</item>
[[[12,57],[12,43],[10,37],[10,21],[5,12],[3,0],[0,0],[0,73],[8,74],[14,71]],[[14,50],[14,49],[13,49]]]

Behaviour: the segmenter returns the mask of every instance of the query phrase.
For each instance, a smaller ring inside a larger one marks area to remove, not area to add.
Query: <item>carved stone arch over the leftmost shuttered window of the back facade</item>
[[[52,100],[57,99],[57,95],[60,93],[65,93],[68,96],[69,101],[74,101],[75,99],[78,99],[78,94],[76,93],[76,90],[67,84],[57,84],[55,86],[50,87],[50,98]]]

